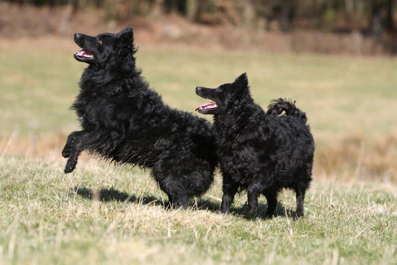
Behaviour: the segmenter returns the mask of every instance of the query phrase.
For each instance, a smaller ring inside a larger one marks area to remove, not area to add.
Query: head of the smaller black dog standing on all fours
[[[196,87],[196,94],[213,102],[200,105],[196,111],[201,114],[218,115],[238,105],[244,95],[249,94],[247,73],[243,73],[234,80],[217,88]]]

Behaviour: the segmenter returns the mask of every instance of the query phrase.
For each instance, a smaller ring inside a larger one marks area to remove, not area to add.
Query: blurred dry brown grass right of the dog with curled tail
[[[397,181],[397,134],[380,138],[359,135],[319,143],[315,175],[345,179]]]

